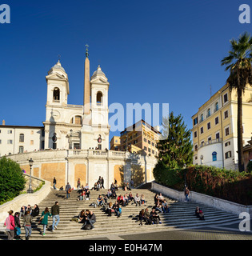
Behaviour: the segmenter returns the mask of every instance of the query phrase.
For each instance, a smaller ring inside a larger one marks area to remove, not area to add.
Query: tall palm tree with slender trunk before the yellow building
[[[238,41],[230,40],[229,56],[222,59],[221,64],[230,70],[226,83],[230,91],[236,90],[238,100],[237,136],[238,136],[238,169],[244,171],[242,142],[242,93],[246,86],[252,85],[252,38],[247,32],[239,36]]]

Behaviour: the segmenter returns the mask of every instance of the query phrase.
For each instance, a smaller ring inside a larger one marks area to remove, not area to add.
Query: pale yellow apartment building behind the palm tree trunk
[[[192,116],[194,164],[238,170],[237,94],[228,85],[222,86]],[[252,87],[242,95],[243,145],[252,132]]]

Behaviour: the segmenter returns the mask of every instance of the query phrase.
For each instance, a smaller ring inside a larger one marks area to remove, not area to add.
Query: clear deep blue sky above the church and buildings
[[[192,128],[210,85],[214,94],[226,82],[220,62],[230,39],[252,29],[238,21],[247,0],[2,3],[10,5],[10,24],[0,24],[0,122],[6,125],[42,126],[45,76],[58,54],[69,76],[68,103],[82,104],[88,43],[90,74],[101,65],[109,104],[169,103]]]

